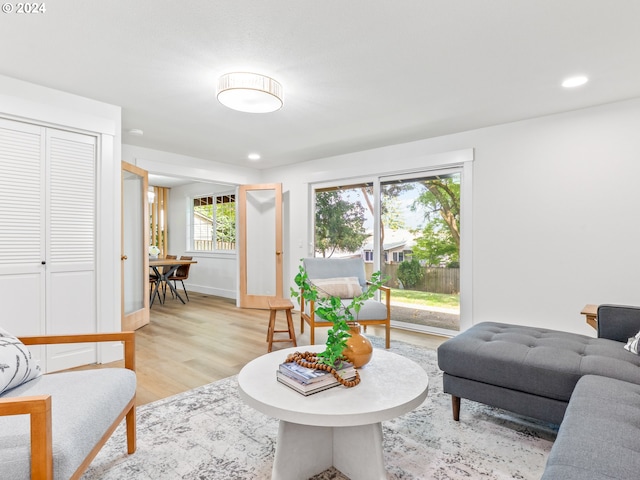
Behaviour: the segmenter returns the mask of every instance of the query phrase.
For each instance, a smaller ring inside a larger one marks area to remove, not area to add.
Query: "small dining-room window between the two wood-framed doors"
[[[236,196],[207,195],[193,199],[193,250],[235,251]]]

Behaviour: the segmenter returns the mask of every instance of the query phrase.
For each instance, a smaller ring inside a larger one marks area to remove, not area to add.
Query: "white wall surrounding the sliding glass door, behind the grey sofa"
[[[309,255],[309,183],[413,169],[472,148],[472,278],[463,291],[472,309],[463,324],[594,335],[579,313],[585,304],[640,304],[638,132],[635,99],[265,171],[285,191],[289,279]]]

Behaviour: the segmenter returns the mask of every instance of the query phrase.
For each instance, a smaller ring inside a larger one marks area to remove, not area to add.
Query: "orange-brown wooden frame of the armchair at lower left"
[[[52,345],[60,343],[124,342],[125,368],[135,372],[135,332],[90,333],[80,335],[45,335],[20,337],[25,345]],[[55,375],[51,373],[50,375]],[[116,421],[105,432],[91,450],[87,458],[75,471],[71,480],[79,479],[107,442],[116,427],[126,417],[127,452],[136,451],[136,406],[135,394]],[[51,435],[51,395],[32,397],[0,398],[0,416],[30,415],[31,420],[31,478],[33,480],[53,479],[53,446]]]

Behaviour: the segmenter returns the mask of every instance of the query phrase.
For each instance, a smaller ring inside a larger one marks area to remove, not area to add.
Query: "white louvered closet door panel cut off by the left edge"
[[[0,326],[15,335],[45,331],[44,130],[0,119]]]

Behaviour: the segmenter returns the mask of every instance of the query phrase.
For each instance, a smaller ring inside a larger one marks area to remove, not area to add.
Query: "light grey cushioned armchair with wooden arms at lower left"
[[[20,337],[24,345],[124,342],[125,368],[41,375],[0,394],[0,477],[79,479],[126,418],[136,450],[135,333]]]

